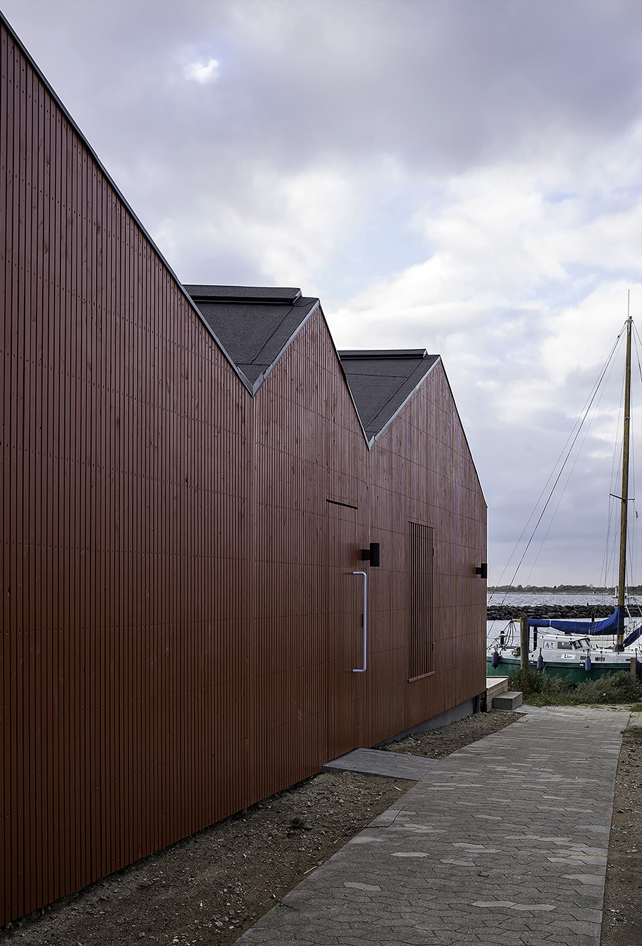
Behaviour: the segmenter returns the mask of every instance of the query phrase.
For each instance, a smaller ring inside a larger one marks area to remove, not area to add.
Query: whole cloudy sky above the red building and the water
[[[0,7],[183,282],[300,286],[338,347],[442,355],[510,580],[629,290],[642,331],[639,0]],[[516,583],[604,581],[621,372]]]

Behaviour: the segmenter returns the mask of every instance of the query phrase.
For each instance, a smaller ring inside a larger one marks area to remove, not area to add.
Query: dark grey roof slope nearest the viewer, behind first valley
[[[319,299],[301,289],[184,286],[239,375],[256,394]]]

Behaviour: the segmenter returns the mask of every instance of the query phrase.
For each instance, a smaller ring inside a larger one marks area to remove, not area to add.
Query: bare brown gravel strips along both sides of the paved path
[[[477,713],[382,747],[442,759],[518,718],[516,712]],[[0,930],[0,943],[228,946],[409,784],[349,772],[315,776],[13,923]],[[642,738],[626,737],[601,946],[642,943],[640,787]]]

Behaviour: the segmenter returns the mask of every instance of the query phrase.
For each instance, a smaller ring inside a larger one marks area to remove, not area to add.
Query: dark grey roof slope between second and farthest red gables
[[[338,357],[371,446],[439,359],[425,348],[340,351]]]

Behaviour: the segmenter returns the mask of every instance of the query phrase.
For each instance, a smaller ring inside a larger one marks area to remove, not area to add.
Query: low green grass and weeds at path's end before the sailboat
[[[639,679],[626,671],[574,684],[568,676],[547,676],[537,670],[512,670],[509,690],[523,692],[527,703],[539,707],[636,703],[642,697]]]

